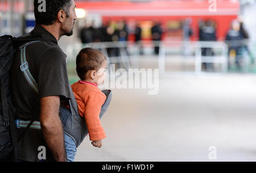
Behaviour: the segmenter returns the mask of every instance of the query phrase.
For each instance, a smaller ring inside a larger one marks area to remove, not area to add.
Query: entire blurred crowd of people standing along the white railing
[[[189,41],[191,36],[195,35],[193,31],[192,20],[185,19],[181,24],[183,41]],[[217,41],[216,23],[212,20],[205,20],[199,22],[199,41]],[[159,54],[159,43],[158,41],[163,39],[163,31],[160,23],[154,21],[151,27],[151,40],[154,41],[154,53]],[[132,31],[134,41],[141,48],[140,41],[142,40],[142,27],[140,23],[137,23]],[[128,41],[130,30],[124,20],[118,22],[111,21],[103,23],[101,27],[94,27],[94,23],[85,23],[85,26],[81,29],[80,38],[82,43],[98,43],[98,42],[110,42],[110,41]],[[241,68],[243,53],[247,52],[251,58],[251,62],[254,62],[254,58],[251,56],[249,48],[243,40],[249,39],[249,34],[243,27],[242,19],[234,19],[230,24],[229,31],[226,32],[225,42],[228,45],[228,57],[234,59],[237,69]],[[184,45],[183,54],[189,54],[189,50]],[[139,53],[143,54],[142,49],[139,49]],[[127,50],[126,50],[127,52]],[[214,50],[212,48],[202,48],[202,56],[214,56]],[[118,56],[118,48],[108,48],[108,56]],[[229,63],[230,67],[230,63]],[[213,70],[212,63],[204,63],[203,69]]]

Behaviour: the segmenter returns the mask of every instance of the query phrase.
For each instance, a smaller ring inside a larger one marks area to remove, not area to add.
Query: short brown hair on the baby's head
[[[105,54],[100,50],[84,48],[80,50],[76,57],[76,72],[81,80],[85,80],[85,74],[89,70],[100,70],[106,61]]]

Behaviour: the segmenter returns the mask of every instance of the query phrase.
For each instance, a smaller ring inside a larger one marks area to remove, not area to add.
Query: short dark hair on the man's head
[[[38,10],[40,1],[34,0],[34,14],[36,24],[51,25],[55,23],[57,13],[62,9],[66,12],[67,18],[69,17],[69,8],[72,5],[72,0],[46,0],[46,12]]]

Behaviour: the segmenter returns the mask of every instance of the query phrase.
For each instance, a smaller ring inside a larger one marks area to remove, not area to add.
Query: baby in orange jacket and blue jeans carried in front
[[[102,139],[106,137],[99,117],[106,95],[98,86],[105,81],[108,62],[100,50],[84,48],[77,55],[76,65],[80,81],[71,87],[79,114],[85,118],[90,141],[92,141],[93,146],[100,148]],[[75,142],[65,133],[64,138],[68,161],[73,161],[76,155]]]

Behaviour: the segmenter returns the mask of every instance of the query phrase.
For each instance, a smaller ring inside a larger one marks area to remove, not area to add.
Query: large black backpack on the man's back
[[[9,73],[15,51],[29,41],[42,36],[1,36],[0,37],[0,162],[16,161],[17,136],[15,128],[15,108],[11,100]]]

